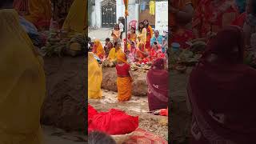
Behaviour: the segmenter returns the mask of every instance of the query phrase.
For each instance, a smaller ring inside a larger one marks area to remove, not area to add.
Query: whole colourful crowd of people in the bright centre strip
[[[116,63],[118,102],[129,101],[132,94],[132,82],[130,66],[133,63],[152,63],[147,74],[149,86],[149,108],[151,111],[167,108],[168,102],[168,72],[166,70],[168,39],[167,32],[159,34],[158,30],[153,30],[148,20],[139,22],[138,32],[135,26],[130,26],[128,38],[122,41],[122,30],[120,22],[114,26],[110,38],[106,38],[105,46],[100,40],[95,39],[90,44],[89,67],[90,69],[89,98],[102,98],[101,82],[102,70],[100,63],[110,61]],[[124,47],[122,48],[122,42]],[[127,42],[127,45],[126,45]],[[98,62],[97,62],[98,60]],[[96,82],[98,81],[98,82]],[[156,87],[157,86],[157,87]],[[97,89],[97,90],[96,90]],[[97,95],[93,94],[98,91]]]

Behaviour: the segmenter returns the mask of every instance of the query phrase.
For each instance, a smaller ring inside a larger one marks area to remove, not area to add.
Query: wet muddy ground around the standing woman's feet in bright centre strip
[[[139,116],[139,127],[150,131],[162,138],[168,140],[168,118],[148,114],[147,97],[133,96],[129,102],[118,102],[117,93],[109,90],[103,90],[101,100],[89,99],[91,106],[98,111],[108,111],[112,108],[125,110],[127,114]]]

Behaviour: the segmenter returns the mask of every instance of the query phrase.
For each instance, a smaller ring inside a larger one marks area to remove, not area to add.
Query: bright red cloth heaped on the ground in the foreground
[[[88,131],[98,130],[110,135],[130,134],[138,128],[138,116],[127,115],[121,110],[111,109],[94,115]]]

